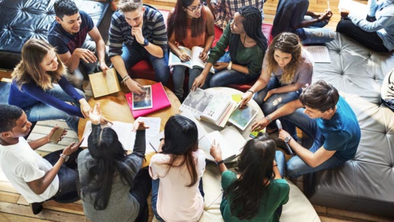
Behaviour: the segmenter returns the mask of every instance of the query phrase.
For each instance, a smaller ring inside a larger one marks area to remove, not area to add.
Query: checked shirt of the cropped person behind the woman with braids
[[[214,15],[216,17],[215,24],[225,29],[227,23],[234,17],[234,14],[242,6],[255,6],[260,9],[261,17],[264,20],[263,4],[266,0],[211,0],[214,7]]]

